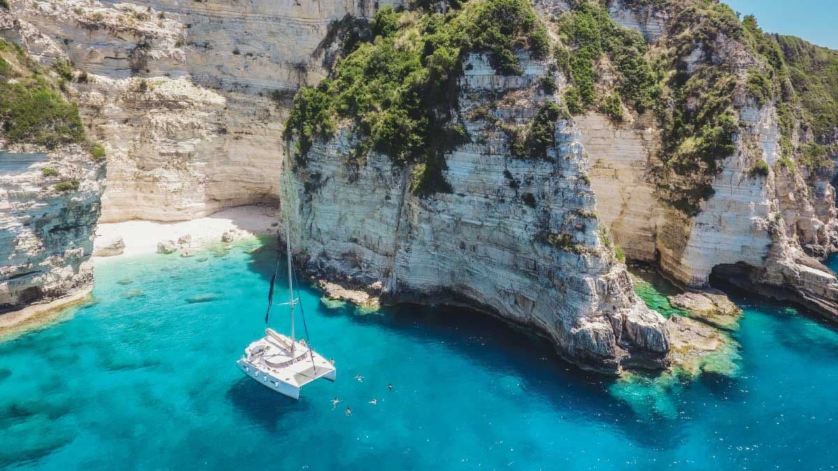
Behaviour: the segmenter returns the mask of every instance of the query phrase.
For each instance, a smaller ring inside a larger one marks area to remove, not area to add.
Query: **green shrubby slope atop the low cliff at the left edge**
[[[63,65],[63,64],[62,64]],[[60,75],[62,65],[56,68]],[[61,95],[59,84],[30,60],[18,44],[0,39],[0,133],[8,142],[54,148],[80,144],[104,158],[104,148],[87,139],[74,103]]]

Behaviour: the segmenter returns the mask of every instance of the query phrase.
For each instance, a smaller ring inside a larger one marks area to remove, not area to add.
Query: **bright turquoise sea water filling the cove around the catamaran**
[[[359,316],[327,309],[305,289],[313,344],[337,359],[338,380],[306,386],[292,401],[235,367],[261,334],[275,261],[271,250],[247,248],[105,261],[96,303],[0,339],[0,468],[838,462],[838,329],[794,308],[734,295],[745,311],[733,334],[742,357],[735,377],[626,386],[567,365],[545,341],[488,316],[423,307]]]

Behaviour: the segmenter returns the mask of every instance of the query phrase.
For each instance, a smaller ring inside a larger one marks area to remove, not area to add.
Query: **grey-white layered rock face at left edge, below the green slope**
[[[0,151],[0,313],[91,286],[103,170],[77,146]]]

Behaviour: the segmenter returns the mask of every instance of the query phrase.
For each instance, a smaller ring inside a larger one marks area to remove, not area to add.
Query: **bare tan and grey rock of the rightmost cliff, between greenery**
[[[664,13],[623,8],[622,3],[612,4],[615,21],[653,42],[661,40],[649,31],[665,32],[659,27]],[[712,60],[741,75],[754,66],[742,44],[725,37],[716,43],[720,52]],[[688,69],[701,66],[695,61]],[[813,257],[838,249],[830,174],[780,163],[776,107],[742,95],[734,100],[741,123],[734,137],[736,151],[723,160],[712,182],[714,194],[695,217],[655,196],[650,175],[660,136],[652,116],[622,124],[597,114],[579,119],[600,218],[626,256],[656,263],[686,286],[706,287],[716,272],[752,291],[838,318],[838,279]],[[758,161],[767,164],[767,176],[751,172]]]

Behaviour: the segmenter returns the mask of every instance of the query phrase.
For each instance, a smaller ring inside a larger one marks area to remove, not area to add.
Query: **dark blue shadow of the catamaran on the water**
[[[304,398],[297,401],[282,396],[249,377],[241,377],[230,385],[226,397],[251,422],[272,431],[279,430],[283,417],[311,410],[311,404]]]

